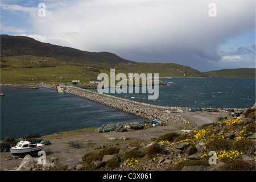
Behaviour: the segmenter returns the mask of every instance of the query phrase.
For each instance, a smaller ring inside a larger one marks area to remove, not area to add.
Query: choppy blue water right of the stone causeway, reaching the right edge
[[[247,78],[162,78],[168,83],[159,86],[157,100],[148,100],[148,93],[112,94],[113,96],[161,106],[236,107],[255,104],[255,79]]]

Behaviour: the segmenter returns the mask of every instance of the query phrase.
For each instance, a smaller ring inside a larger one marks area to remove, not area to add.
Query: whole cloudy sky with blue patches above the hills
[[[201,72],[255,68],[255,0],[1,0],[1,34]]]

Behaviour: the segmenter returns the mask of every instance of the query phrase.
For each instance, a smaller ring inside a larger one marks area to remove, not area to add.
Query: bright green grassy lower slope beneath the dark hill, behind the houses
[[[189,77],[203,76],[202,73],[190,67],[172,63],[137,63],[137,64],[82,64],[63,61],[51,57],[39,56],[2,56],[1,83],[30,82],[68,82],[80,80],[89,83],[90,78],[96,78],[99,73],[110,76],[110,68],[117,73],[159,73],[159,77]],[[127,75],[128,77],[128,75]]]

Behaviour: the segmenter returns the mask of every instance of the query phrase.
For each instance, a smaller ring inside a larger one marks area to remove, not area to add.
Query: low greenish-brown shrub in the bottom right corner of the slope
[[[255,162],[246,162],[245,160],[236,159],[229,160],[220,168],[221,170],[232,170],[232,171],[245,171],[245,170],[254,170],[255,171]]]

